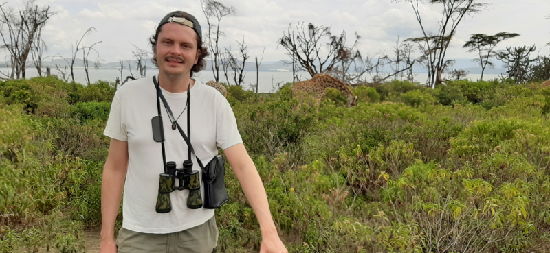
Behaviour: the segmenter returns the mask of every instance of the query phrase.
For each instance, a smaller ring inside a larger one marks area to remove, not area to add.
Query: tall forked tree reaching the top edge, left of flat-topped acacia
[[[428,68],[428,80],[426,86],[435,88],[441,84],[445,56],[456,29],[466,14],[480,12],[488,3],[479,3],[477,0],[393,0],[396,2],[406,1],[412,6],[416,19],[420,25],[423,36],[419,38],[408,38],[406,41],[417,43],[422,55],[421,62]],[[443,10],[438,21],[439,30],[430,32],[425,29],[422,21],[421,2],[428,2],[432,5],[440,5]]]

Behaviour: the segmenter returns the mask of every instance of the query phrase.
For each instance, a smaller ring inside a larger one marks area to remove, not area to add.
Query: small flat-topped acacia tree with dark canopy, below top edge
[[[485,34],[472,34],[470,40],[468,40],[463,48],[468,49],[468,52],[473,53],[478,52],[478,58],[475,58],[474,62],[478,62],[481,65],[481,78],[483,80],[483,73],[487,66],[494,67],[493,62],[490,61],[491,58],[496,57],[496,52],[494,48],[498,43],[509,38],[515,38],[520,36],[519,34],[511,34],[507,32],[499,32],[495,35],[485,35]]]

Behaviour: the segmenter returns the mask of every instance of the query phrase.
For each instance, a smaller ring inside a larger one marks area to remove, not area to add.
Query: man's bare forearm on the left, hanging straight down
[[[108,163],[101,181],[101,239],[114,239],[115,221],[120,208],[126,169],[114,169]]]

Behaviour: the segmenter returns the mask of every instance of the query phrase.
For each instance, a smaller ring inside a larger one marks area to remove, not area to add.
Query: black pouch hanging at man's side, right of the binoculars
[[[216,209],[228,202],[223,156],[217,155],[208,162],[202,171],[202,181],[204,182],[204,208]]]

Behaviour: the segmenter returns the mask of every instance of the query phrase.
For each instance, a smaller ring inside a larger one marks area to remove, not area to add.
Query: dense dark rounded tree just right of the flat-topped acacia
[[[537,58],[530,57],[534,51],[536,51],[535,45],[507,47],[505,50],[498,51],[496,58],[506,64],[507,76],[521,84],[530,80],[531,64],[537,60]]]

